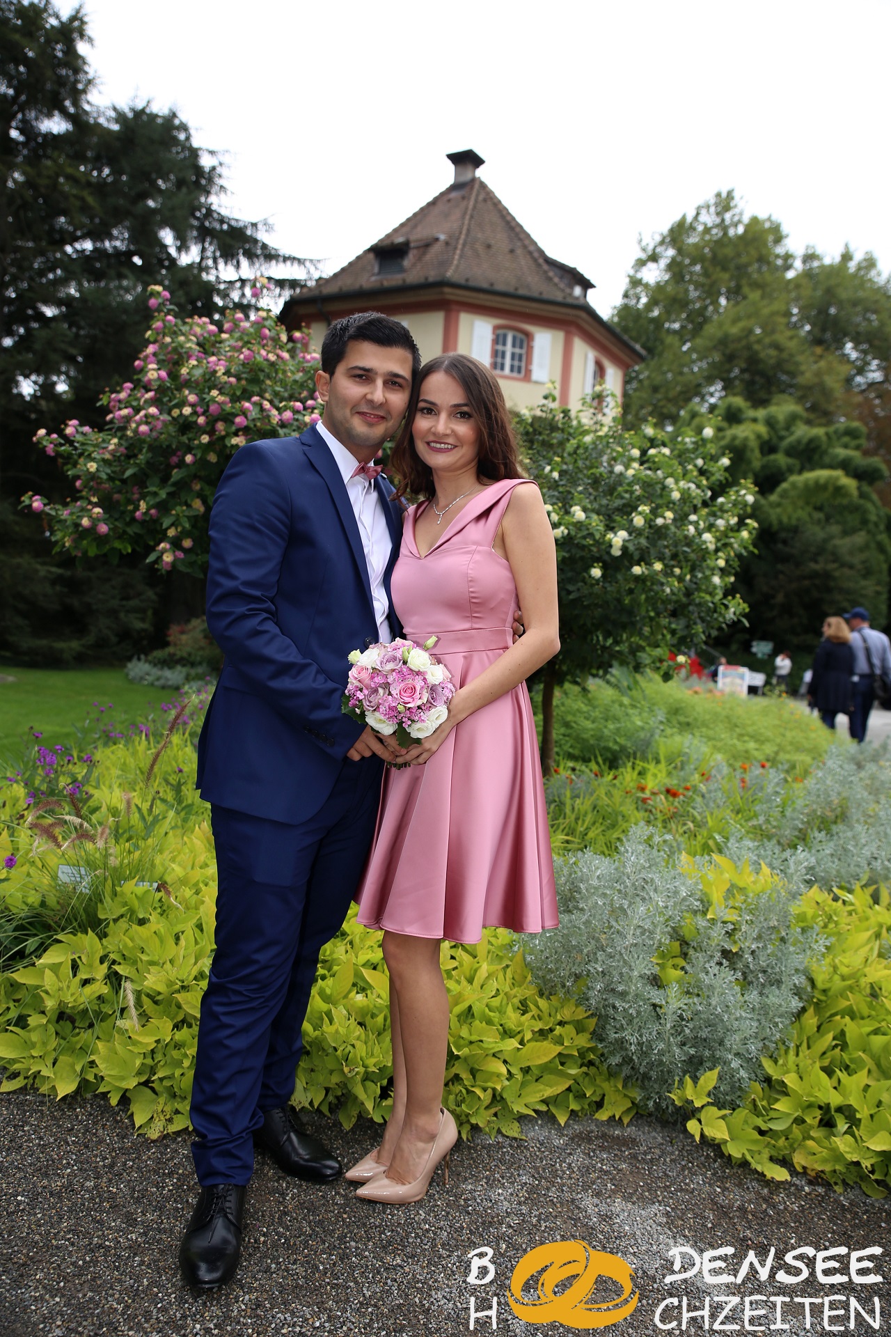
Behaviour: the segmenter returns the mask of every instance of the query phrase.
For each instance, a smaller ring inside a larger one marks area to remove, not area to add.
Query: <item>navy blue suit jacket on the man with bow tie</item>
[[[389,596],[402,516],[382,473],[375,487],[393,537]],[[207,626],[226,662],[198,742],[202,798],[306,821],[362,733],[341,713],[346,656],[378,639],[359,528],[314,427],[243,445],[227,465],[210,517]]]

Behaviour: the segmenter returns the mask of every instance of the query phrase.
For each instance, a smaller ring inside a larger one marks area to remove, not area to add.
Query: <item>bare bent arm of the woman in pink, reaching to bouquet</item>
[[[560,650],[557,551],[537,487],[513,489],[501,521],[501,533],[517,586],[525,634],[496,663],[454,694],[446,722],[429,738],[409,749],[402,758],[414,766],[429,761],[462,719],[525,682]]]

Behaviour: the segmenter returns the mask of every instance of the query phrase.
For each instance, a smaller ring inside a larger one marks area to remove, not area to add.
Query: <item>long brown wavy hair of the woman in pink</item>
[[[480,424],[480,459],[477,473],[481,479],[522,479],[517,440],[510,424],[510,414],[498,381],[485,364],[465,353],[443,353],[434,357],[418,372],[405,414],[402,431],[390,455],[390,469],[398,476],[398,496],[406,493],[415,497],[435,496],[433,469],[418,457],[414,448],[414,418],[418,412],[421,390],[427,376],[445,372],[454,376],[464,390],[468,408]]]

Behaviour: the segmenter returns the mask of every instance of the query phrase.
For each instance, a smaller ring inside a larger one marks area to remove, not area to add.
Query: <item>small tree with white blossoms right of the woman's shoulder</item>
[[[573,412],[549,392],[517,427],[557,544],[561,650],[542,698],[550,769],[558,683],[657,668],[744,615],[731,587],[753,545],[755,497],[729,481],[711,432],[625,432],[602,397]]]

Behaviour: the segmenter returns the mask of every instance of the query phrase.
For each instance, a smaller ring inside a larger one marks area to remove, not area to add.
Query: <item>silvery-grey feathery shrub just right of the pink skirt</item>
[[[557,897],[560,928],[524,940],[529,969],[597,1017],[640,1104],[664,1115],[677,1082],[719,1066],[719,1098],[740,1099],[806,997],[818,932],[793,923],[796,897],[767,869],[697,870],[643,824],[613,858],[560,860]]]

